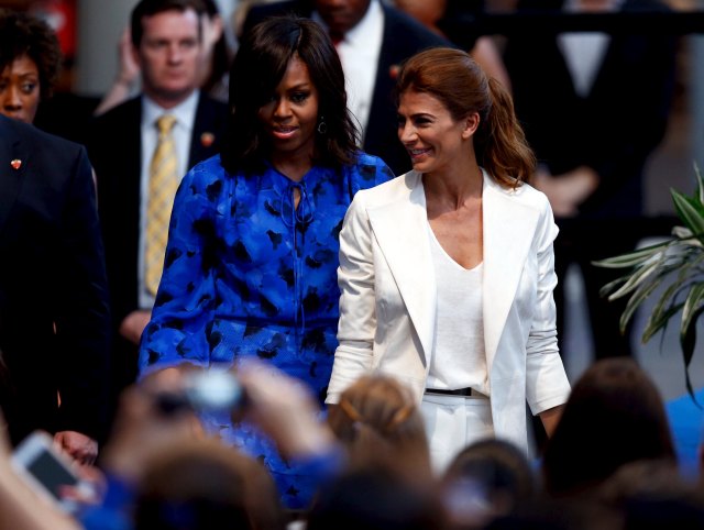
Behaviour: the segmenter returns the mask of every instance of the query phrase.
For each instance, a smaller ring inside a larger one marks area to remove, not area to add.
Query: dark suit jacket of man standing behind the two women
[[[396,102],[393,98],[397,67],[408,57],[426,48],[453,45],[406,13],[386,4],[382,4],[382,9],[384,10],[384,35],[364,137],[364,151],[380,156],[396,175],[400,175],[409,170],[411,164],[408,153],[398,140],[398,119]],[[310,16],[312,2],[292,0],[255,5],[248,14],[243,32],[248,32],[268,16],[286,13]]]

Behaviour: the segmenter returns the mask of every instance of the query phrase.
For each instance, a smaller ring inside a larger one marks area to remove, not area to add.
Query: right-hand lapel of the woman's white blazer
[[[539,212],[515,200],[484,174],[484,345],[491,372],[494,355],[516,297]]]

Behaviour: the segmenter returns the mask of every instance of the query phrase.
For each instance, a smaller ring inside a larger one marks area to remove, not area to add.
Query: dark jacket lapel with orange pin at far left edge
[[[12,144],[0,142],[0,232],[10,217],[10,212],[20,195],[24,174],[30,159],[30,146],[21,141],[21,131],[13,126],[9,118],[0,122],[0,134],[13,137]],[[13,161],[20,161],[20,166],[12,167]]]

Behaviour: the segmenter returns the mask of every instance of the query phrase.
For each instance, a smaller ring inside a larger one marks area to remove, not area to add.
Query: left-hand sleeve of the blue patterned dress
[[[193,168],[176,194],[164,272],[152,320],[140,345],[140,377],[184,363],[210,363],[208,327],[216,307],[216,220],[222,203],[224,173],[208,167],[206,163]]]

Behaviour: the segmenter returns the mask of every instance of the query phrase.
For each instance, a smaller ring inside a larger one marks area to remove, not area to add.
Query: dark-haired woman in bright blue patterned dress
[[[361,153],[327,34],[272,19],[231,71],[229,137],[184,178],[140,371],[229,366],[258,357],[326,396],[337,346],[339,232],[354,194],[393,177]],[[289,508],[315,482],[246,423],[205,415],[272,472]]]

